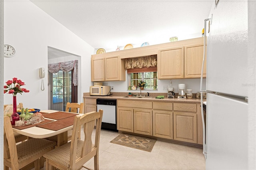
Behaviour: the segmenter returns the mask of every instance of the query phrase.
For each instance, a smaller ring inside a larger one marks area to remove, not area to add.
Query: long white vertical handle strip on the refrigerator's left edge
[[[204,20],[204,32],[206,33],[206,22],[210,21],[211,18],[207,18]],[[204,60],[205,60],[205,54],[206,54],[206,34],[204,34],[204,56],[203,56],[203,61],[202,61],[202,69],[201,69],[201,79],[200,79],[200,93],[201,93],[201,116],[202,116],[202,124],[203,124],[203,154],[204,157],[207,158],[206,156],[206,129],[205,129],[205,124],[204,124],[204,109],[203,109],[203,93],[208,92],[206,90],[202,90],[202,85],[203,85],[203,73],[204,73]],[[206,106],[207,107],[207,106]]]

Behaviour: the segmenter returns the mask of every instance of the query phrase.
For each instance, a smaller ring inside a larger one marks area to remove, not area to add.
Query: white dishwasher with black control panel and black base
[[[118,131],[116,128],[116,99],[97,99],[97,111],[103,110],[102,129]]]

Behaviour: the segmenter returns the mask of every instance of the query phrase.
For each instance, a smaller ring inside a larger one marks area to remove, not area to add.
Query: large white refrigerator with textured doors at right
[[[248,169],[248,1],[216,0],[204,32],[206,169]]]

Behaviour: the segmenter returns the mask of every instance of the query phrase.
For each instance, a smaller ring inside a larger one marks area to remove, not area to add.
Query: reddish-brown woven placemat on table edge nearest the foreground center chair
[[[75,115],[75,114],[73,114]],[[66,128],[66,127],[70,127],[74,124],[74,117],[68,117],[68,118],[65,118],[65,119],[60,119],[58,121],[54,121],[54,122],[51,122],[51,123],[46,123],[46,124],[43,124],[43,125],[38,125],[36,127],[40,127],[40,128],[46,128],[46,129],[49,129],[49,130],[60,130],[62,128]]]

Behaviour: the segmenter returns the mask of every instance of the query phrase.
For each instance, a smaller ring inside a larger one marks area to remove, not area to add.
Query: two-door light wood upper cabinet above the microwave
[[[91,81],[125,81],[124,60],[119,55],[92,57]]]

